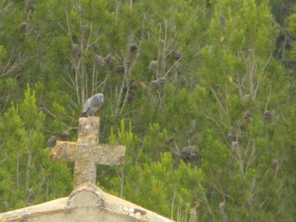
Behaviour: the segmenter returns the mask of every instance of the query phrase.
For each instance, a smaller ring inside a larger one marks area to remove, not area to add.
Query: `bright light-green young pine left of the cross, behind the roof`
[[[16,107],[12,102],[0,119],[1,211],[25,207],[32,201],[26,194],[30,188],[36,195],[33,204],[70,192],[71,176],[66,166],[48,161],[43,130],[45,118],[44,113],[37,110],[35,91],[28,86],[24,99]]]

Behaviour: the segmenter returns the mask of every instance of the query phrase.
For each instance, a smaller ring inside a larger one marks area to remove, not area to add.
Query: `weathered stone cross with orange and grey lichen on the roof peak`
[[[122,165],[125,147],[98,144],[100,118],[80,118],[77,142],[57,141],[49,153],[54,162],[75,163],[74,190],[81,185],[95,185],[96,165]]]

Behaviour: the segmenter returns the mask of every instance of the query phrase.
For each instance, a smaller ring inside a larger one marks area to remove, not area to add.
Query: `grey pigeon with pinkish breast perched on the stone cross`
[[[86,100],[80,117],[93,116],[101,107],[104,101],[104,95],[102,93],[95,94],[88,100]]]

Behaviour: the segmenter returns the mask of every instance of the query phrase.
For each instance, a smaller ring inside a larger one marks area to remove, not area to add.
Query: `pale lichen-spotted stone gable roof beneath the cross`
[[[88,189],[81,187],[79,190]],[[99,189],[99,188],[98,188]],[[42,204],[25,207],[0,214],[1,222],[13,221],[122,221],[122,222],[172,222],[170,219],[153,213],[138,205],[113,195],[107,194],[99,189],[104,201],[104,207],[94,205],[81,205],[66,207],[69,197],[52,200]],[[86,191],[83,195],[89,202]]]

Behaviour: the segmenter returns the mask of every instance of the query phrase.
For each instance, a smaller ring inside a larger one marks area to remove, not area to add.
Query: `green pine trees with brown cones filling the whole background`
[[[0,212],[70,194],[49,147],[102,92],[100,142],[127,147],[123,168],[98,167],[106,192],[176,221],[293,221],[295,9],[1,0]]]

